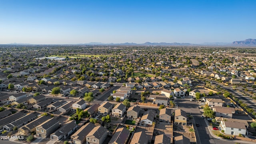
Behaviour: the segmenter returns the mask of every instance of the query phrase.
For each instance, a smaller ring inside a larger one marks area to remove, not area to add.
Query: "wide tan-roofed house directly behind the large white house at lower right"
[[[212,108],[212,110],[215,112],[215,116],[224,117],[224,118],[232,118],[233,114],[235,113],[234,108],[221,107],[221,106],[215,106]]]

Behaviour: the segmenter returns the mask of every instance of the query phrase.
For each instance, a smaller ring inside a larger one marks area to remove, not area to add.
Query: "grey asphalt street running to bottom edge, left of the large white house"
[[[234,144],[232,141],[223,141],[212,137],[210,134],[206,122],[201,118],[202,114],[200,109],[198,109],[198,103],[195,101],[190,101],[187,99],[177,99],[175,103],[178,104],[179,108],[184,110],[187,114],[194,117],[194,122],[198,123],[200,126],[195,127],[197,138],[200,138],[201,144]]]

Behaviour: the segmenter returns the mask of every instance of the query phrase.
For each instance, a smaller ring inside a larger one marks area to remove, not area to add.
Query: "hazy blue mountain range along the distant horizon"
[[[29,45],[24,43],[11,43],[17,45]],[[204,42],[201,44],[191,44],[191,43],[167,43],[167,42],[145,42],[143,44],[136,43],[102,43],[102,42],[90,42],[90,43],[80,43],[78,45],[104,45],[104,46],[252,46],[256,47],[256,39],[246,39],[234,42]]]

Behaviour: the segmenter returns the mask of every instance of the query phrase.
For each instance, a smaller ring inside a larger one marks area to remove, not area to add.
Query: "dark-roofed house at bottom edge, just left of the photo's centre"
[[[108,144],[126,144],[130,136],[130,131],[126,128],[118,128]]]

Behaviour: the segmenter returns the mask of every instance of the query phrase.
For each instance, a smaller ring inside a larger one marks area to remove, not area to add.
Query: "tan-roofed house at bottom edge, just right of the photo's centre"
[[[148,136],[144,131],[135,132],[130,144],[148,144],[148,140],[150,136]]]

